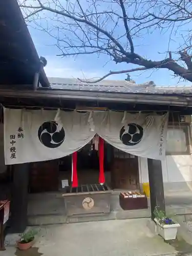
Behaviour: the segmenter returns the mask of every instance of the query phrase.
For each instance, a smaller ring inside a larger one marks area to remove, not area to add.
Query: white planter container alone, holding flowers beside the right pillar
[[[173,240],[176,239],[177,236],[177,229],[180,227],[179,223],[174,223],[170,225],[164,225],[159,223],[159,221],[155,218],[154,220],[157,224],[157,231],[158,234],[164,239],[164,240]]]

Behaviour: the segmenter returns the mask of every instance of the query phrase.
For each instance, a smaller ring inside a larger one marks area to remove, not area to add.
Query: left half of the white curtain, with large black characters
[[[5,163],[38,162],[71,155],[95,135],[88,119],[89,113],[76,111],[4,108]]]

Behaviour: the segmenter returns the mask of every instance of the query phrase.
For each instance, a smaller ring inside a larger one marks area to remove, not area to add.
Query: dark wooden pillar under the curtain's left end
[[[13,165],[10,232],[21,233],[27,227],[29,164]]]

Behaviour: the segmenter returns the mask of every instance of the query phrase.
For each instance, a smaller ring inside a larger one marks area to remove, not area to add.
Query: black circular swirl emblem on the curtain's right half
[[[128,123],[121,128],[119,137],[123,144],[134,146],[141,141],[143,128],[139,124]]]

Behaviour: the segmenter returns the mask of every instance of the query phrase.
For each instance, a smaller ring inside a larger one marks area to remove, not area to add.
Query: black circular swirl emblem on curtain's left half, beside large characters
[[[55,121],[45,122],[38,129],[38,138],[44,146],[56,148],[65,140],[65,131]]]

